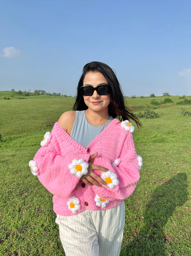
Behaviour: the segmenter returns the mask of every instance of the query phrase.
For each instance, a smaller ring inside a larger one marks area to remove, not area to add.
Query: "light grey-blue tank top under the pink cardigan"
[[[87,148],[90,142],[106,128],[112,119],[113,118],[110,116],[109,120],[104,125],[94,126],[88,123],[85,116],[85,110],[76,111],[76,117],[70,137]]]

